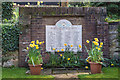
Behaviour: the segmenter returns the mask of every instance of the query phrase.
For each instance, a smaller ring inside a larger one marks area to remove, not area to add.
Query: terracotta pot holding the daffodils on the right
[[[91,74],[101,73],[102,65],[95,62],[89,62]]]

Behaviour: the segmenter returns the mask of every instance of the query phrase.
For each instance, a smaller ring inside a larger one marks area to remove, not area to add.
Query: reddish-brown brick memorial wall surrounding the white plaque
[[[22,25],[19,37],[19,66],[26,66],[25,48],[31,40],[45,41],[45,25],[55,25],[60,19],[67,19],[73,25],[82,25],[82,44],[86,40],[98,37],[104,42],[104,56],[109,56],[108,24],[104,22],[106,8],[103,7],[20,7],[20,24]],[[83,50],[83,58],[87,53]],[[49,54],[43,50],[44,62],[49,60]]]

